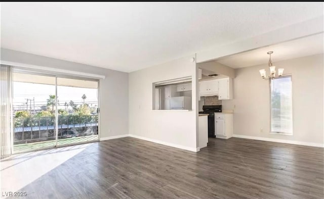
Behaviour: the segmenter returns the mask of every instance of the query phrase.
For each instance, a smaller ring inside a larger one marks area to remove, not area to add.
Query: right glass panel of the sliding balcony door
[[[57,78],[58,145],[98,140],[98,81]]]

